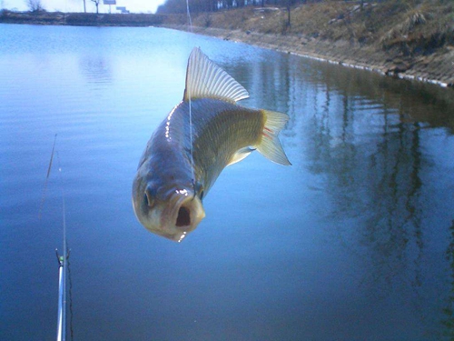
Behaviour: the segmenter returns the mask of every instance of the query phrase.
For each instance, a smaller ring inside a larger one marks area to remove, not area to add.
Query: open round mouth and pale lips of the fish
[[[163,210],[161,226],[165,236],[180,242],[204,216],[202,202],[197,196],[185,189],[176,190]]]

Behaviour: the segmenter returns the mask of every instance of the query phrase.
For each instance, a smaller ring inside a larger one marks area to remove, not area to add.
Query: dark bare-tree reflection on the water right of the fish
[[[375,287],[378,297],[412,291],[420,322],[433,324],[424,302],[433,279],[426,266],[434,252],[426,240],[447,226],[450,210],[440,209],[438,202],[447,200],[451,207],[454,188],[452,139],[443,137],[433,145],[432,140],[452,134],[451,91],[285,55],[239,73],[252,92],[264,94],[265,103],[291,113],[285,142],[302,145],[303,163],[323,176],[321,190],[334,205],[330,219],[345,222],[336,226],[341,244],[367,263],[361,286]],[[449,174],[433,178],[433,169],[446,156]],[[430,183],[438,181],[442,185],[432,188]],[[445,325],[454,333],[452,324]],[[446,334],[429,330],[433,336]]]

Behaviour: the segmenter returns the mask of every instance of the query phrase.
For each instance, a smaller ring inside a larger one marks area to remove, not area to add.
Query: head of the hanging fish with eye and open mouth
[[[135,216],[147,230],[181,242],[205,216],[193,187],[192,180],[139,171],[133,181]]]

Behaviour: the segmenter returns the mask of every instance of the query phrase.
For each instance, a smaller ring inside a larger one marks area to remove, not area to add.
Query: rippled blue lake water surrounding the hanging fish
[[[177,244],[131,186],[194,45],[242,105],[290,115],[293,165],[225,169]],[[68,339],[452,339],[453,133],[434,85],[162,28],[0,25],[0,339],[56,335],[63,211]]]

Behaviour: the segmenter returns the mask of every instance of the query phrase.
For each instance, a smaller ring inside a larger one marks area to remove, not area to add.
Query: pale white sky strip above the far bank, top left
[[[116,0],[116,5],[112,5],[112,13],[119,13],[115,10],[116,6],[126,7],[132,13],[154,13],[159,5],[165,0]],[[26,0],[0,0],[0,8],[27,11]],[[41,4],[48,12],[84,12],[84,0],[41,0]],[[96,12],[96,6],[91,0],[85,0],[86,11]],[[109,13],[109,5],[104,5],[101,0],[99,5],[100,13]]]

